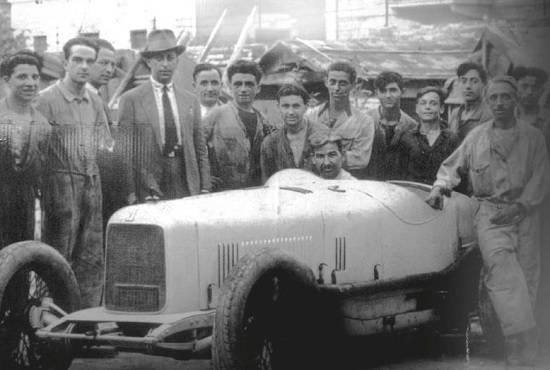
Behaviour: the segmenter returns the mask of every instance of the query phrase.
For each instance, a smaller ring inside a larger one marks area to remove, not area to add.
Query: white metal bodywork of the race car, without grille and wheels
[[[328,284],[331,275],[337,284],[383,281],[453,262],[456,211],[434,211],[403,186],[302,175],[294,182],[272,178],[264,188],[129,207],[111,222],[164,230],[164,313],[213,307],[231,268],[260,247],[288,251],[315,275],[321,267]]]

